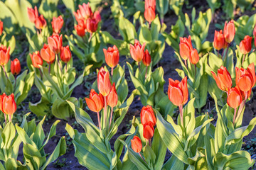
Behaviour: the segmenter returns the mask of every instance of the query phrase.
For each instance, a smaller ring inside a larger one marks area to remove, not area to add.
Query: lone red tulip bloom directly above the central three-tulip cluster
[[[105,61],[111,68],[116,67],[119,62],[119,51],[117,46],[108,47],[107,50],[103,49],[105,55]]]

